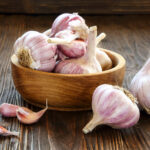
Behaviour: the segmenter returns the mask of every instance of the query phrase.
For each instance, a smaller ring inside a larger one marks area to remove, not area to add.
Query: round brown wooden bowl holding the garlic
[[[113,68],[96,74],[59,74],[25,68],[11,57],[12,77],[16,89],[29,103],[49,109],[77,111],[91,109],[94,89],[104,83],[122,85],[125,59],[105,50],[112,59]]]

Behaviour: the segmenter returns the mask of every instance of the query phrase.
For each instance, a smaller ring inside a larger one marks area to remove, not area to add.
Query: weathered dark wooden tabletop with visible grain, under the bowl
[[[0,103],[27,104],[14,88],[10,56],[18,36],[27,30],[44,31],[55,16],[0,15]],[[89,25],[98,25],[107,34],[102,46],[122,54],[127,60],[124,86],[150,56],[150,16],[85,16]],[[8,129],[20,132],[20,139],[0,137],[1,150],[149,150],[150,116],[141,113],[139,123],[129,129],[100,126],[84,135],[82,128],[91,118],[91,111],[47,111],[34,125],[20,124],[16,118],[3,118]]]

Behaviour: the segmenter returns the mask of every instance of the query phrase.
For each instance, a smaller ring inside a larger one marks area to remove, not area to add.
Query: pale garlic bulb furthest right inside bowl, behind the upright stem
[[[104,51],[100,50],[99,48],[96,49],[96,58],[103,71],[112,68],[112,60]]]

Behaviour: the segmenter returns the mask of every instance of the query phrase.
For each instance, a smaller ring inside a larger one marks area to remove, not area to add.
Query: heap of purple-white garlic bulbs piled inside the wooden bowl
[[[25,67],[64,74],[97,73],[112,67],[109,56],[97,48],[105,38],[88,27],[77,13],[58,16],[51,29],[28,31],[14,44],[18,62]]]

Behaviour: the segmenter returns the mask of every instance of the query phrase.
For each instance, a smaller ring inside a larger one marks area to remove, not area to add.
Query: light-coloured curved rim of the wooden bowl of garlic
[[[124,59],[124,57],[120,54],[118,54],[117,52],[113,52],[112,50],[107,50],[107,49],[104,49],[104,48],[99,48],[100,50],[106,52],[106,53],[110,53],[111,55],[115,56],[116,58],[118,58],[118,64],[111,68],[111,69],[108,69],[108,70],[105,70],[105,71],[102,71],[102,72],[99,72],[99,73],[90,73],[90,74],[61,74],[61,73],[53,73],[53,72],[44,72],[44,71],[39,71],[39,70],[34,70],[34,69],[31,69],[31,68],[27,68],[27,67],[24,67],[24,66],[21,66],[18,62],[17,62],[17,59],[14,59],[15,54],[13,54],[11,56],[11,63],[21,69],[24,69],[26,71],[31,71],[31,72],[34,72],[34,73],[40,73],[40,74],[43,74],[43,75],[50,75],[50,76],[58,76],[58,77],[87,77],[87,76],[96,76],[96,75],[103,75],[103,74],[108,74],[108,73],[112,73],[116,70],[119,70],[121,69],[122,67],[124,67],[126,65],[126,60]]]

